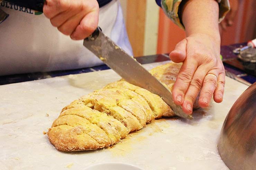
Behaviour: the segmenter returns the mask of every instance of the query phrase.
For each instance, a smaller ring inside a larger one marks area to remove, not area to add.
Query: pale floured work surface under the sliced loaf
[[[147,64],[151,69],[159,64]],[[112,70],[0,86],[1,169],[84,169],[106,162],[143,169],[228,169],[217,151],[222,123],[247,88],[226,77],[224,101],[194,113],[194,120],[155,120],[107,149],[59,152],[43,131],[66,104],[119,80]],[[203,114],[202,114],[203,113]]]

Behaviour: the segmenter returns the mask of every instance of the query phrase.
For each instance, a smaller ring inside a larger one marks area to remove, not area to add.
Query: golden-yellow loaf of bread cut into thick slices
[[[172,90],[180,68],[181,64],[171,62],[150,73]],[[163,116],[175,114],[161,97],[120,80],[64,107],[47,135],[60,151],[95,150],[116,144]]]

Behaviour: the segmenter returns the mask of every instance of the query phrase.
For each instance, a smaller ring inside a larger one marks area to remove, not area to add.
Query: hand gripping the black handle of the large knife
[[[97,0],[46,0],[44,14],[52,25],[71,39],[84,39],[97,28]]]

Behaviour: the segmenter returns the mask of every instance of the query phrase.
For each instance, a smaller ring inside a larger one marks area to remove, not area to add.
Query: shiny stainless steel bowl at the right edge
[[[218,150],[231,170],[256,169],[256,82],[231,107],[221,129]]]

